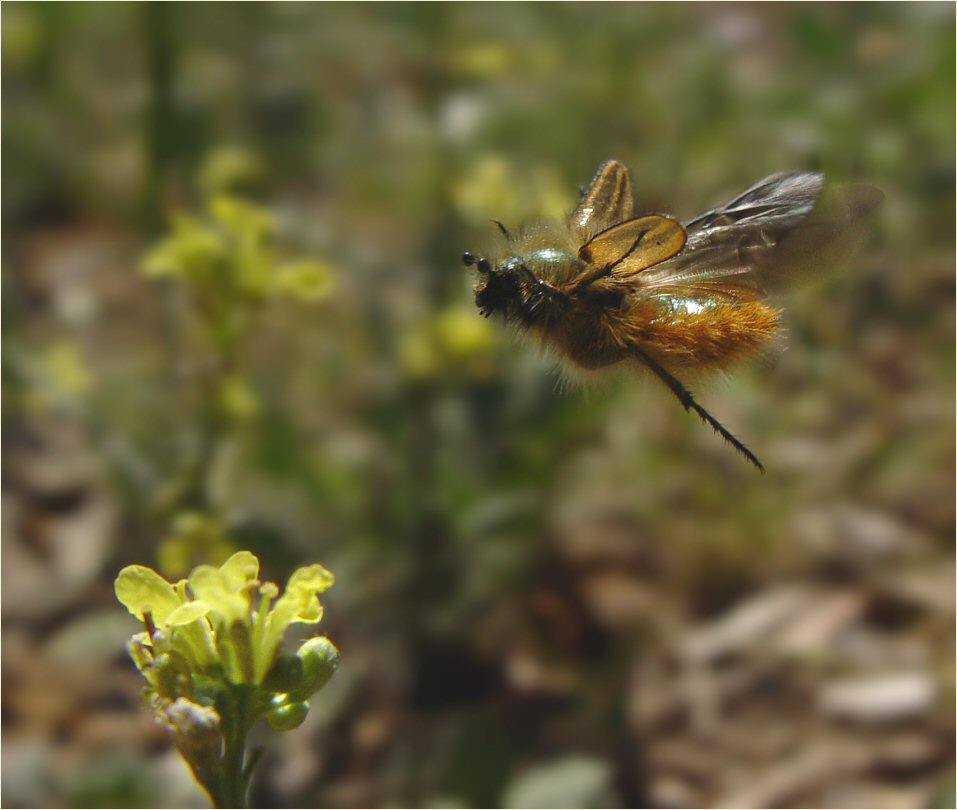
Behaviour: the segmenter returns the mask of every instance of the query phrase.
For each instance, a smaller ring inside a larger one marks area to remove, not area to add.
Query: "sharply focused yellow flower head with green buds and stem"
[[[200,565],[176,583],[142,565],[116,577],[117,599],[146,625],[128,649],[149,682],[148,703],[214,806],[242,806],[253,723],[265,718],[276,731],[296,728],[308,698],[335,672],[339,653],[325,637],[307,640],[295,655],[281,649],[291,624],[322,618],[319,594],[332,583],[321,565],[307,565],[280,596],[259,580],[259,560],[249,551],[219,567]]]

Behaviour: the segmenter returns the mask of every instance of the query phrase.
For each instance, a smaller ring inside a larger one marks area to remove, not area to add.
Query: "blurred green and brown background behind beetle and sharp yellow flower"
[[[5,806],[205,806],[112,581],[239,548],[337,577],[259,806],[953,806],[953,4],[2,23]],[[609,157],[679,218],[783,169],[886,194],[695,384],[765,476],[475,311],[489,220]]]

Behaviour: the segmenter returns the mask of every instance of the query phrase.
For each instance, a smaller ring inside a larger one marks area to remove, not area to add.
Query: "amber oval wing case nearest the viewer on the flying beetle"
[[[594,268],[610,270],[613,278],[628,278],[670,259],[685,245],[685,229],[657,215],[636,217],[602,231],[578,251]]]

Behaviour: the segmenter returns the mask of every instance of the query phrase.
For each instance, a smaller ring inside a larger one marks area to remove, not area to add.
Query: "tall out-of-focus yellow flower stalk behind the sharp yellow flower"
[[[192,318],[179,319],[177,329],[189,340],[190,321],[200,335],[187,351],[208,357],[198,391],[198,452],[188,454],[160,487],[158,506],[173,515],[172,535],[157,559],[161,570],[182,576],[191,565],[219,564],[236,546],[216,514],[226,504],[211,492],[211,470],[220,449],[248,434],[260,416],[259,396],[246,368],[249,344],[258,334],[258,319],[271,301],[291,306],[316,304],[331,292],[329,267],[311,259],[280,260],[274,246],[275,218],[268,209],[242,196],[222,193],[242,188],[256,175],[256,162],[237,149],[215,150],[201,171],[208,215],[177,215],[172,233],[148,250],[143,273],[151,279],[178,283],[188,299]],[[242,464],[230,459],[231,464]],[[218,503],[216,501],[219,501]],[[184,507],[187,511],[181,511]],[[212,509],[210,516],[195,510]]]

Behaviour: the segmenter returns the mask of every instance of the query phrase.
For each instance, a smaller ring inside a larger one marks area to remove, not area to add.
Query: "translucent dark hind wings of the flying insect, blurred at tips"
[[[783,172],[686,223],[684,250],[642,273],[643,287],[755,298],[846,263],[884,195]]]

